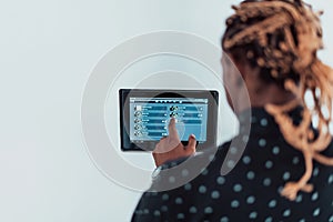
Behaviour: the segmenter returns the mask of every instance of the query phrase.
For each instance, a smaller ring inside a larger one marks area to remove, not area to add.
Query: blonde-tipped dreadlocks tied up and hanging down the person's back
[[[329,124],[332,119],[333,70],[316,57],[323,48],[319,16],[302,0],[245,0],[232,7],[222,38],[223,50],[233,59],[241,58],[260,68],[260,78],[293,92],[296,99],[283,104],[268,104],[285,139],[304,155],[305,173],[297,182],[287,182],[282,195],[295,200],[300,190],[311,192],[307,181],[313,160],[333,165],[333,159],[322,155],[331,142]],[[312,95],[314,107],[307,107],[305,93]],[[294,125],[287,112],[302,105],[302,123]],[[324,111],[326,110],[326,112]],[[319,118],[317,137],[310,128]]]

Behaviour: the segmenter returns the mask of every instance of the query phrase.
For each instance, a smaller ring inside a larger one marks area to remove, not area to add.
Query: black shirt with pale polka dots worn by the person
[[[300,110],[290,113],[295,124],[300,122],[299,113]],[[285,142],[279,125],[264,109],[252,109],[250,135],[240,133],[236,138],[248,143],[234,165],[226,157],[236,154],[238,147],[228,142],[214,151],[206,150],[189,158],[190,167],[178,173],[163,173],[162,170],[151,190],[143,193],[132,221],[333,222],[333,168],[314,161],[310,180],[313,191],[300,191],[295,201],[286,200],[281,196],[281,190],[286,182],[299,181],[303,175],[303,155]],[[332,144],[324,154],[333,157]],[[190,176],[203,159],[209,159],[210,163],[198,176],[172,190],[154,192]],[[168,163],[163,169],[174,168],[182,161]],[[221,175],[225,162],[233,169]]]

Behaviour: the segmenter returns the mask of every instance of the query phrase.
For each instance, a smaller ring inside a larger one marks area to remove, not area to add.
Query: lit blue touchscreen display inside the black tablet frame
[[[170,118],[176,120],[182,141],[194,134],[206,141],[208,99],[196,98],[130,98],[130,140],[159,141],[167,137]]]

